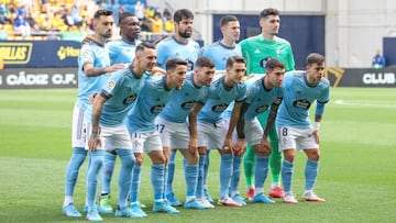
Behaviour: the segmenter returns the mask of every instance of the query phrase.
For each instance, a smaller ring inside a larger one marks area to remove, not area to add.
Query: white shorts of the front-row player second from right
[[[244,133],[245,133],[246,143],[249,143],[252,146],[261,144],[261,140],[263,138],[264,132],[257,118],[254,118],[253,120],[245,120]],[[232,140],[233,142],[237,142],[238,140],[237,130],[232,135]]]

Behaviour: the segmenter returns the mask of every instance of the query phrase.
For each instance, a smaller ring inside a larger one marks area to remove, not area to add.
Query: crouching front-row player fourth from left
[[[231,135],[237,125],[242,102],[245,99],[246,86],[243,83],[245,71],[246,66],[243,57],[229,57],[226,75],[216,77],[208,94],[194,105],[189,115],[191,135],[196,136],[199,132],[198,149],[200,156],[206,155],[207,148],[216,148],[220,153],[220,198],[218,203],[227,207],[242,205],[230,198],[228,191],[233,171],[234,146]],[[224,118],[224,111],[233,101],[235,103],[232,115],[228,120]],[[199,169],[199,171],[204,170]]]

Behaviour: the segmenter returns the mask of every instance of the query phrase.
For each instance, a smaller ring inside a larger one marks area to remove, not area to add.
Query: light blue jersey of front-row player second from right
[[[279,105],[282,102],[283,87],[267,90],[264,87],[264,78],[265,76],[258,76],[245,81],[248,88],[245,102],[250,104],[244,113],[245,120],[252,120],[266,111],[273,103]]]

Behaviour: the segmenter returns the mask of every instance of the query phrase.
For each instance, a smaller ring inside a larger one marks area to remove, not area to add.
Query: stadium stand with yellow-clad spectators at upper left
[[[2,0],[0,2],[0,40],[80,40],[92,33],[92,11],[88,11],[88,9],[111,10],[116,23],[118,23],[119,14],[122,11],[135,13],[138,1]],[[144,18],[141,19],[142,40],[153,41],[164,33],[173,31],[173,25],[169,26],[172,22],[167,21],[169,16],[162,16],[155,5],[146,5],[146,0],[140,0],[140,2],[144,5]],[[164,20],[163,32],[152,33],[155,14],[160,14]],[[26,25],[29,32],[15,26],[20,23]]]

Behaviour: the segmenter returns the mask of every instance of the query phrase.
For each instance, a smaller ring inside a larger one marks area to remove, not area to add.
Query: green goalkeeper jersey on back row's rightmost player
[[[285,64],[286,71],[295,69],[292,45],[288,41],[274,36],[266,41],[262,34],[245,38],[240,43],[242,55],[246,59],[246,75],[265,74],[265,63],[270,57]]]

